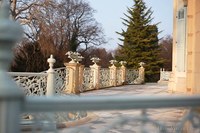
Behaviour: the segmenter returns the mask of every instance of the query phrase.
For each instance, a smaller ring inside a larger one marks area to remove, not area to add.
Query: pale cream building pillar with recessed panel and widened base
[[[189,2],[190,3],[190,2]],[[186,91],[188,51],[188,12],[186,0],[174,0],[173,14],[173,64],[168,82],[170,92]]]

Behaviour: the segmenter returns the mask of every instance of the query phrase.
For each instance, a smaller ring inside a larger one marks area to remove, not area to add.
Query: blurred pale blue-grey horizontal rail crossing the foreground
[[[26,97],[24,112],[55,112],[75,110],[127,110],[146,108],[199,107],[196,96],[66,96]]]

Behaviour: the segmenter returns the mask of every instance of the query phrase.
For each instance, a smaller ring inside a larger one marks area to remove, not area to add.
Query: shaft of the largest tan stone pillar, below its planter
[[[68,88],[66,93],[79,94],[79,63],[65,63],[66,68],[69,70]]]

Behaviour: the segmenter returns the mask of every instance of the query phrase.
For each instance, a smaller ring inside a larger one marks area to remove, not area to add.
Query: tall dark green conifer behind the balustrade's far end
[[[123,24],[127,30],[122,30],[120,39],[123,45],[117,51],[116,59],[127,61],[128,68],[138,68],[139,62],[144,62],[146,81],[156,81],[159,78],[159,70],[163,65],[160,58],[160,46],[158,45],[157,24],[152,24],[152,11],[147,8],[143,0],[134,0],[134,6],[128,8],[127,19],[123,18]]]

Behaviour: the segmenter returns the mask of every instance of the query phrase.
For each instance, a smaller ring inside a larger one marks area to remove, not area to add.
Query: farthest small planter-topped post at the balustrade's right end
[[[134,84],[143,84],[145,83],[145,68],[144,68],[144,62],[140,62],[140,68],[139,68],[139,76],[137,79],[134,80]]]

